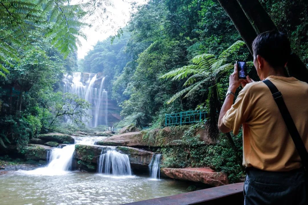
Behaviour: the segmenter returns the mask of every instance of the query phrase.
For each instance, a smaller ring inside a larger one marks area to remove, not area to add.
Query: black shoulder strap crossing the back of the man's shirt
[[[266,79],[263,82],[269,87],[270,92],[272,93],[274,100],[281,112],[282,118],[285,121],[286,126],[290,132],[292,140],[294,141],[298,154],[301,157],[303,166],[305,169],[307,169],[308,168],[308,152],[306,150],[306,147],[303,143],[301,136],[298,133],[298,130],[294,124],[294,121],[292,120],[292,117],[285,104],[285,101],[283,101],[282,94],[279,92],[277,87],[270,80]]]

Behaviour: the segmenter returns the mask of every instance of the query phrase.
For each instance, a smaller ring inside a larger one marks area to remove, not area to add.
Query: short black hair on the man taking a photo
[[[288,38],[276,30],[259,34],[252,43],[252,49],[254,57],[262,56],[274,69],[283,68],[291,53]]]

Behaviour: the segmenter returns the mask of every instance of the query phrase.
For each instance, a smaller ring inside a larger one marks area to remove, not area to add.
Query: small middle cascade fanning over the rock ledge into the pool
[[[117,152],[115,147],[103,147],[97,164],[98,173],[132,175],[128,156]]]

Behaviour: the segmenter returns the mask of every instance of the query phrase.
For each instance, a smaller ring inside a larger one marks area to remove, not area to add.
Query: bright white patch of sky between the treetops
[[[108,0],[107,0],[108,1]],[[131,3],[136,2],[137,4],[144,4],[147,0],[109,0],[113,6],[105,6],[108,11],[108,19],[103,22],[103,25],[93,24],[91,28],[84,28],[82,31],[87,35],[87,40],[79,38],[82,43],[82,46],[78,48],[78,58],[82,59],[87,55],[87,52],[93,49],[93,46],[97,41],[102,41],[108,38],[111,35],[115,35],[115,31],[118,28],[123,28],[129,18],[131,12],[134,12],[132,9]],[[91,19],[86,22],[90,23]],[[98,28],[99,26],[99,28]],[[97,30],[99,29],[99,30]]]

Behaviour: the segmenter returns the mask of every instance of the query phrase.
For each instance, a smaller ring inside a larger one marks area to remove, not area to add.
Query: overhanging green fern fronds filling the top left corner
[[[51,37],[51,44],[64,57],[81,45],[78,37],[87,24],[80,21],[85,15],[82,7],[70,1],[2,0],[0,1],[0,75],[3,77],[20,61],[20,51],[35,47],[32,43],[41,35]]]

